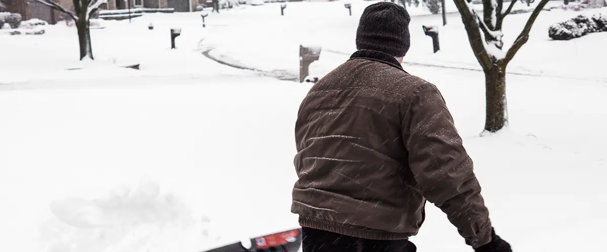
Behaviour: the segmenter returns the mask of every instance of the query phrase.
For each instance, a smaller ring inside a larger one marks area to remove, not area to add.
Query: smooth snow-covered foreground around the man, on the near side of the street
[[[504,239],[603,251],[605,84],[509,76],[512,126],[480,137],[482,73],[409,71],[444,93]],[[195,252],[297,227],[293,127],[310,85],[144,82],[0,91],[0,250]],[[420,250],[470,251],[427,210]]]

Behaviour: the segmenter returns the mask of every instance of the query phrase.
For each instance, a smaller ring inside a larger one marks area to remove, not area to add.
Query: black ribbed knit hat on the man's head
[[[362,12],[356,30],[356,49],[375,50],[402,57],[409,51],[409,22],[407,10],[392,2],[371,4]]]

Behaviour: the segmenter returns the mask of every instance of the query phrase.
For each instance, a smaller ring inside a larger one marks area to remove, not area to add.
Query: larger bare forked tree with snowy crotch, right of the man
[[[497,132],[508,123],[506,106],[506,66],[529,39],[529,31],[549,0],[541,0],[515,39],[512,46],[503,51],[504,18],[512,11],[517,0],[503,9],[503,0],[483,0],[483,18],[478,16],[469,0],[453,0],[461,14],[468,33],[470,46],[485,73],[486,117],[485,131]]]

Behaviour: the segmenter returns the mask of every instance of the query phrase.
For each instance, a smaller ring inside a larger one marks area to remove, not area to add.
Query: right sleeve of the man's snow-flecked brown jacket
[[[472,159],[436,86],[427,83],[411,97],[402,123],[409,166],[424,197],[447,214],[466,244],[489,243],[489,211]]]

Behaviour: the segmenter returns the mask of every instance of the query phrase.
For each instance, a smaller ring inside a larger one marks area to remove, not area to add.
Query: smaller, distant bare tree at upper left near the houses
[[[95,11],[106,4],[107,0],[73,0],[74,11],[67,10],[53,0],[33,0],[47,5],[55,10],[65,13],[76,23],[78,30],[78,44],[80,44],[80,60],[84,57],[93,58],[93,49],[90,43],[90,17]]]

